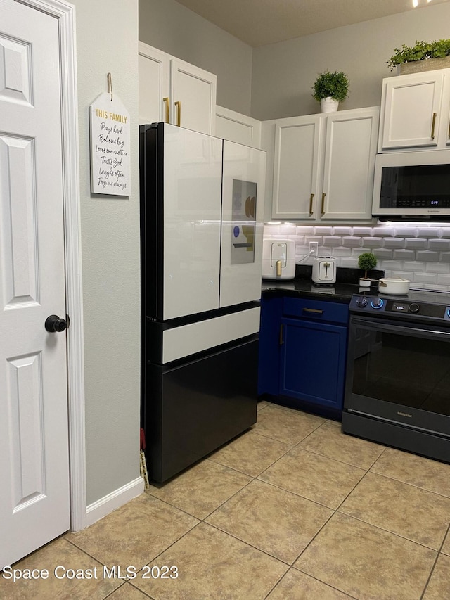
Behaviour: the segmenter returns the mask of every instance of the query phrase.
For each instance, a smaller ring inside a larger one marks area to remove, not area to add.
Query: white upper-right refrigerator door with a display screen
[[[220,306],[261,297],[266,153],[224,140]]]

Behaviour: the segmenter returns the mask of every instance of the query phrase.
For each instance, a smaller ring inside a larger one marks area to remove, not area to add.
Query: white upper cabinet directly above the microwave
[[[450,143],[450,69],[383,79],[378,152]]]

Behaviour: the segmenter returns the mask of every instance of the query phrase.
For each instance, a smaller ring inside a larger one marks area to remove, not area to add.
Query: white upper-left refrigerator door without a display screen
[[[164,125],[163,319],[219,307],[222,141]]]

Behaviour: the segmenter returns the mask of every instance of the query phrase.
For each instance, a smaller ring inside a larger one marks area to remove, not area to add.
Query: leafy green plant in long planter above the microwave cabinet
[[[446,56],[450,56],[450,39],[439,39],[434,42],[416,42],[413,46],[403,44],[401,48],[394,48],[394,53],[387,60],[387,65],[390,70],[399,67],[400,72],[418,72],[442,68],[439,62],[449,60]],[[431,63],[428,60],[432,60]],[[411,64],[412,63],[412,64]],[[444,66],[447,66],[444,64]]]

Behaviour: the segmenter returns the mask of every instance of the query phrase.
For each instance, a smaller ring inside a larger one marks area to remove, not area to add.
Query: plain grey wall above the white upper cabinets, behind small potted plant
[[[320,113],[311,96],[317,74],[344,71],[349,97],[340,108],[378,106],[386,61],[401,44],[450,37],[450,3],[261,46],[253,50],[252,111],[259,120]]]

